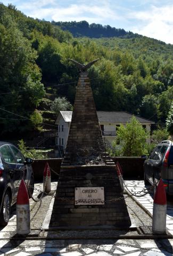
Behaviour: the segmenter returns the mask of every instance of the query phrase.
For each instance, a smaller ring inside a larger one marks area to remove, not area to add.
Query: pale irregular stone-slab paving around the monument
[[[131,191],[139,191],[144,188],[143,181],[126,181]],[[42,189],[43,184],[36,184],[35,187]],[[52,189],[56,188],[56,182],[52,182]],[[38,193],[34,193],[36,197]],[[146,195],[142,198],[135,198],[148,211],[152,213],[152,196]],[[30,206],[34,202],[30,199]],[[50,210],[49,210],[50,211]],[[172,211],[172,212],[171,212]],[[168,205],[167,227],[170,233],[173,231],[173,207]],[[172,222],[171,222],[172,221]],[[172,225],[172,226],[171,226]],[[1,256],[171,256],[173,239],[76,239],[76,240],[11,240],[10,231],[16,228],[16,216],[13,212],[9,224],[0,232],[0,255]],[[172,233],[171,233],[172,234]]]

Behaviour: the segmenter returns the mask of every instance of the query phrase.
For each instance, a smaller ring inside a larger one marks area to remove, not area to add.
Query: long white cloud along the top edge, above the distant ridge
[[[81,2],[81,0],[80,0]],[[87,2],[87,1],[85,1]],[[105,23],[105,20],[122,19],[120,15],[113,11],[110,3],[95,0],[92,3],[71,4],[67,7],[61,7],[57,1],[50,0],[47,6],[46,0],[30,1],[22,3],[18,6],[19,10],[24,10],[24,13],[38,19],[52,19],[55,21],[80,21],[87,20],[90,22]]]

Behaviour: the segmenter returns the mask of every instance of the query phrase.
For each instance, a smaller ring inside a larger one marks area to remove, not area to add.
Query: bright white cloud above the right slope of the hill
[[[173,44],[173,4],[164,7],[152,6],[150,10],[133,12],[130,18],[141,22],[131,29],[134,33],[153,37]]]

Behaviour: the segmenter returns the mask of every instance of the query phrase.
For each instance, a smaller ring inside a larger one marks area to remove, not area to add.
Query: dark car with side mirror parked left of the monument
[[[23,179],[34,188],[31,158],[25,158],[20,150],[7,142],[0,142],[0,225],[5,226],[10,218],[11,206],[16,203],[18,189]],[[33,188],[29,189],[32,195]]]

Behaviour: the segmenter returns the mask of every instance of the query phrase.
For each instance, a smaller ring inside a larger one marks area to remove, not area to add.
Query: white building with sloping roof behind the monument
[[[130,122],[132,114],[125,111],[97,111],[98,121],[100,122],[102,135],[110,143],[116,138],[116,130],[120,124],[126,125]],[[55,124],[58,127],[58,135],[56,136],[56,145],[61,149],[65,149],[69,134],[72,111],[60,111]],[[139,116],[135,116],[142,126],[150,132],[153,121]],[[150,142],[150,141],[148,141]]]

